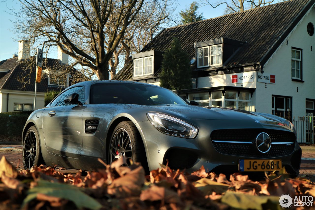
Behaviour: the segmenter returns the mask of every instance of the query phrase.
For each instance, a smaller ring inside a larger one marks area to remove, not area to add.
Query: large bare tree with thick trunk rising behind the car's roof
[[[14,31],[31,45],[59,46],[77,64],[108,79],[109,63],[144,0],[21,0]],[[119,51],[119,50],[118,50]]]

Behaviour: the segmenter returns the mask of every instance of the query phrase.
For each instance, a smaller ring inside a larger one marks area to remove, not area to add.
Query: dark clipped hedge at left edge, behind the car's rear
[[[24,125],[29,114],[26,112],[0,113],[0,136],[1,138],[21,138]]]

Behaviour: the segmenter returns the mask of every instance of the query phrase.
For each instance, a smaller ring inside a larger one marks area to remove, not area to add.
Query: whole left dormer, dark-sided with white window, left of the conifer
[[[154,69],[159,69],[163,59],[163,52],[157,50],[145,51],[131,55],[133,59],[133,77],[151,77]]]

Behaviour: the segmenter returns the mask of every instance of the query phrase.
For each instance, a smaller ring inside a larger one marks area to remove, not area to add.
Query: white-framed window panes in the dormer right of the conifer
[[[209,50],[210,49],[210,50]],[[211,45],[197,49],[198,67],[222,64],[222,45]]]

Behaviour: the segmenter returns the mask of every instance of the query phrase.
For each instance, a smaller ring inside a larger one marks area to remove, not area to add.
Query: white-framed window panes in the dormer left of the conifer
[[[134,76],[153,74],[153,56],[137,58],[134,61]]]

